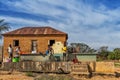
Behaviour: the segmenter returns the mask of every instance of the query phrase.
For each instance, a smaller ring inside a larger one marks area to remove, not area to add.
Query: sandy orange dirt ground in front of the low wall
[[[115,71],[120,73],[120,68],[115,68]],[[37,74],[37,76],[42,76],[43,74]],[[50,74],[49,75],[56,75]],[[70,75],[70,74],[69,74]],[[92,78],[85,78],[78,75],[70,75],[73,80],[120,80],[120,76],[117,78],[115,76],[106,76],[106,75],[95,75]],[[13,71],[12,74],[9,74],[8,71],[0,71],[0,80],[34,80],[35,77],[30,77],[26,75],[26,72],[16,72]],[[48,79],[49,80],[49,79]]]

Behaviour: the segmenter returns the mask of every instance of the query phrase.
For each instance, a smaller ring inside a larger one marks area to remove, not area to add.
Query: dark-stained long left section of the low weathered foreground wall
[[[68,72],[71,70],[71,63],[69,62],[18,62],[8,63],[2,65],[3,70],[10,70],[11,68],[18,71],[36,71],[36,72],[57,72],[59,68]]]

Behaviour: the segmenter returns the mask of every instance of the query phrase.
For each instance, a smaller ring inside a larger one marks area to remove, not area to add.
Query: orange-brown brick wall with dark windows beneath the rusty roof
[[[7,48],[9,44],[13,46],[13,40],[19,40],[19,46],[24,53],[31,52],[31,41],[37,40],[37,52],[44,53],[49,40],[66,41],[66,35],[48,35],[48,36],[4,36],[4,56],[8,56]],[[13,47],[15,49],[15,47]]]

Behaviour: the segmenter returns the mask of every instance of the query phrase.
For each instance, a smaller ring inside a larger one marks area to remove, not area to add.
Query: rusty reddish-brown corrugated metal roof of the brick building
[[[23,27],[17,30],[13,30],[3,35],[40,35],[40,34],[67,34],[52,27]]]

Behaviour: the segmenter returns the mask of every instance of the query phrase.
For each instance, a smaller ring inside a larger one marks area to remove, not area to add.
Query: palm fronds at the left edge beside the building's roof
[[[1,38],[1,34],[4,31],[8,31],[10,29],[8,23],[4,22],[4,19],[0,19],[0,38]]]

